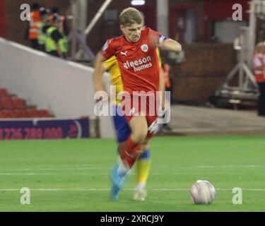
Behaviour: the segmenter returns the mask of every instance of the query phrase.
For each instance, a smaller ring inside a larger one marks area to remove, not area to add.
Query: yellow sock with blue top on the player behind
[[[150,150],[146,149],[141,153],[136,162],[137,186],[136,191],[142,190],[146,186],[148,175],[151,168]]]

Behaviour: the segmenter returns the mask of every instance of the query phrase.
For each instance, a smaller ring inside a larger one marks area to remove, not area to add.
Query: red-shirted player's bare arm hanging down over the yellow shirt
[[[93,73],[93,83],[95,88],[95,93],[98,91],[105,91],[105,83],[103,81],[103,74],[105,72],[105,68],[103,66],[103,62],[105,61],[105,57],[101,52],[98,52],[97,57],[95,58],[95,71]]]

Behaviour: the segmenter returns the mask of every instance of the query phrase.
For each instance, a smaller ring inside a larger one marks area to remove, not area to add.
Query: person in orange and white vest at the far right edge
[[[253,58],[253,70],[259,85],[258,115],[265,117],[265,43],[259,42]]]

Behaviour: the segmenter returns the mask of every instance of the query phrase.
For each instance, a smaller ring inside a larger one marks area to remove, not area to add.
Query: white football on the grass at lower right
[[[210,204],[216,197],[216,189],[210,182],[199,180],[192,185],[189,194],[194,204]]]

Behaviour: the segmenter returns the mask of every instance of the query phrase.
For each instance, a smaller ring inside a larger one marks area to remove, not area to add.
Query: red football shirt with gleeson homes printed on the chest
[[[102,54],[106,59],[117,57],[125,91],[132,94],[158,90],[160,69],[156,46],[164,39],[158,32],[145,28],[138,42],[128,42],[124,35],[107,40]]]

